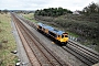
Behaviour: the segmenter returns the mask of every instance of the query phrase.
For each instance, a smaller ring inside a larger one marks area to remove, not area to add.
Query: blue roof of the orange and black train
[[[44,29],[47,29],[48,31],[51,31],[51,32],[53,32],[53,33],[55,33],[55,34],[58,34],[58,35],[62,35],[63,33],[65,33],[65,32],[63,32],[63,31],[55,30],[54,28],[48,26],[48,25],[43,24],[43,23],[37,23],[37,24],[41,25],[41,26],[44,28]]]

